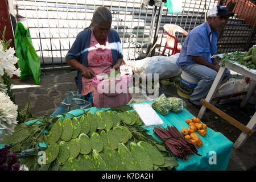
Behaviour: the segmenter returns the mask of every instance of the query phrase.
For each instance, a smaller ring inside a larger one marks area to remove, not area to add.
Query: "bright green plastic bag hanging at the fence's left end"
[[[30,32],[22,23],[16,24],[14,35],[14,46],[16,57],[18,60],[18,68],[20,69],[20,77],[23,80],[32,78],[35,84],[40,84],[41,65],[35,48],[32,45]]]

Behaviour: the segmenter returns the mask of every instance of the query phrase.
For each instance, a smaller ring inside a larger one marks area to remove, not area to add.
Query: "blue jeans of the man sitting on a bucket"
[[[200,100],[201,98],[207,97],[217,72],[201,64],[184,65],[181,67],[181,69],[199,80],[196,88],[193,90],[193,93],[189,97],[189,100],[193,104],[201,105]],[[227,69],[224,78],[229,75],[230,71]]]

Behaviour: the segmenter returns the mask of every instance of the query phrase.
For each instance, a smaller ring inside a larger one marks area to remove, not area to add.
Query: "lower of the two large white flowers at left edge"
[[[6,93],[0,92],[0,140],[5,135],[12,135],[18,121],[18,106],[16,106]]]

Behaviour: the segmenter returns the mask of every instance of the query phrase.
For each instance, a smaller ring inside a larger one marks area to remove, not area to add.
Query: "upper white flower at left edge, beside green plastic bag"
[[[9,77],[13,75],[20,76],[19,68],[16,69],[15,64],[18,62],[18,58],[14,56],[15,50],[10,47],[9,49],[2,50],[0,47],[0,76],[7,73]]]

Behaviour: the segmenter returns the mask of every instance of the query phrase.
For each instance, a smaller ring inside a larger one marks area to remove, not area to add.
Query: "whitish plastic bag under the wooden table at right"
[[[230,78],[227,82],[225,82],[218,88],[218,96],[240,93],[240,92],[244,92],[246,89],[247,89],[247,84],[244,79]],[[230,102],[236,102],[240,99],[240,97],[241,96],[224,99],[224,100],[221,100],[219,104],[228,104]]]

